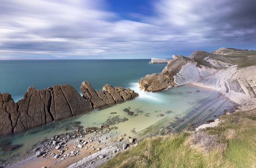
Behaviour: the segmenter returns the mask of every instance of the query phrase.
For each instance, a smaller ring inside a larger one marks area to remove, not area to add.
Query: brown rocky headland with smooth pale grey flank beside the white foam
[[[160,74],[147,75],[139,80],[140,88],[149,92],[157,92],[168,87],[190,83],[201,76],[212,74],[211,64],[197,61],[182,55],[173,55]]]

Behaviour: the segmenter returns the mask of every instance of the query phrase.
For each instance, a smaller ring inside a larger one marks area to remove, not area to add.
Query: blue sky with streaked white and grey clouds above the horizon
[[[256,50],[256,0],[1,0],[0,60]]]

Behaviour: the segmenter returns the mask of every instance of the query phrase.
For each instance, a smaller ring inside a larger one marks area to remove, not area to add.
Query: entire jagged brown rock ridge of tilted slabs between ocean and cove
[[[0,138],[138,96],[129,88],[108,84],[104,91],[95,91],[87,81],[82,83],[81,91],[83,97],[69,84],[41,90],[29,87],[17,103],[10,94],[0,94]]]

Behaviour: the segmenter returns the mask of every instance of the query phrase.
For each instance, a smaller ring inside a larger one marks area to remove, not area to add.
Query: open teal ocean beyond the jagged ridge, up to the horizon
[[[54,84],[70,84],[78,92],[84,80],[95,90],[104,84],[129,87],[146,74],[161,72],[166,64],[150,60],[26,60],[0,61],[0,93],[10,93],[15,102],[29,86],[43,89]]]

